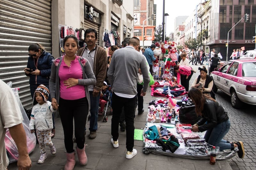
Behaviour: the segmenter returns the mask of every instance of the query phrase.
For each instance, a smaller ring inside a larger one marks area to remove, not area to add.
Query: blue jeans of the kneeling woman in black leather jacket
[[[229,119],[225,122],[217,124],[214,128],[206,131],[204,135],[205,141],[213,146],[219,146],[220,151],[225,149],[231,149],[231,144],[227,143],[223,137],[228,133],[230,129]]]

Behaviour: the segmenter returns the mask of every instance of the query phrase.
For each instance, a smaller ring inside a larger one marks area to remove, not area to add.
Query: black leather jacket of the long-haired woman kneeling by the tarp
[[[216,101],[205,99],[202,118],[197,122],[200,132],[214,128],[217,124],[227,121],[228,113]],[[207,123],[205,123],[207,121]]]

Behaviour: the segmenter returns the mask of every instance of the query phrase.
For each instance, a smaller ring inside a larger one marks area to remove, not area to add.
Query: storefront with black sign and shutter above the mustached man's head
[[[93,28],[97,31],[97,41],[96,44],[99,44],[99,33],[101,25],[101,13],[96,10],[95,7],[84,3],[84,29]]]

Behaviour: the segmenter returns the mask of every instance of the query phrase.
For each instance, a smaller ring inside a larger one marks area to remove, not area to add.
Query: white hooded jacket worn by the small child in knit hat
[[[34,126],[36,126],[36,129],[39,131],[52,129],[52,112],[56,111],[57,110],[52,108],[52,102],[50,101],[42,105],[37,103],[32,108],[29,129],[34,129]]]

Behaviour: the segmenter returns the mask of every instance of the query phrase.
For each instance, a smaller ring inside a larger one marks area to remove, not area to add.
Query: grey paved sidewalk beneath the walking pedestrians
[[[193,67],[194,68],[194,67]],[[197,70],[197,68],[195,68]],[[198,76],[198,72],[193,75],[191,81]],[[136,111],[135,117],[135,129],[143,129],[146,123],[147,107],[150,100],[156,97],[150,95],[151,89],[148,89],[147,95],[144,97],[144,114],[138,115]],[[227,160],[217,160],[215,165],[210,165],[209,160],[195,160],[195,159],[180,159],[169,156],[144,154],[143,141],[134,141],[134,148],[137,149],[137,155],[132,159],[126,159],[126,147],[125,132],[119,130],[119,147],[114,148],[111,144],[111,115],[108,115],[108,122],[103,122],[103,116],[99,116],[97,137],[95,139],[89,139],[89,131],[86,134],[86,154],[88,157],[88,163],[86,166],[80,166],[76,155],[75,170],[82,169],[97,169],[97,170],[156,170],[156,169],[179,169],[179,170],[232,170]],[[37,164],[37,160],[40,157],[39,145],[36,144],[35,150],[29,155],[32,160],[33,169],[47,169],[47,170],[59,170],[64,169],[66,163],[66,152],[64,146],[64,134],[60,118],[55,119],[56,135],[52,139],[56,146],[57,153],[55,156],[51,155],[49,147],[47,147],[46,154],[47,159],[43,164]],[[86,124],[89,129],[89,122]],[[74,144],[75,147],[75,144]],[[17,162],[14,162],[8,166],[8,170],[16,170]]]

